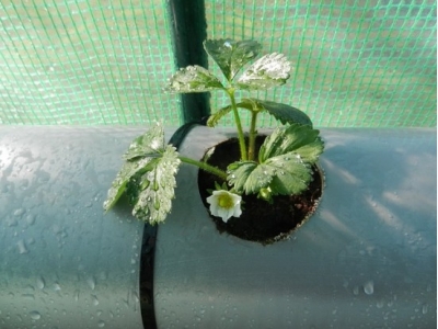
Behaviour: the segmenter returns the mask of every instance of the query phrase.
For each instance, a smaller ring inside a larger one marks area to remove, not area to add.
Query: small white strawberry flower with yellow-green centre
[[[211,215],[221,217],[224,223],[231,217],[240,217],[242,215],[241,203],[242,196],[220,190],[212,191],[212,195],[207,197],[210,204]]]

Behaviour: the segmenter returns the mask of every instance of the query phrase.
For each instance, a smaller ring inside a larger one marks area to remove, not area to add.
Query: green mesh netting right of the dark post
[[[292,104],[319,126],[436,126],[435,1],[206,4],[209,37],[256,38],[293,61],[285,87],[255,97]]]

